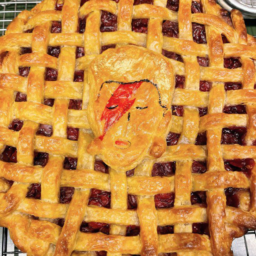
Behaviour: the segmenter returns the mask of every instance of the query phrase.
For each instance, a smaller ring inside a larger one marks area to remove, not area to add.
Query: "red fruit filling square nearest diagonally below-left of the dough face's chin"
[[[110,208],[110,202],[111,202],[111,193],[107,191],[102,190],[91,190],[91,195],[89,198],[88,205],[97,205],[100,207],[106,207]]]

